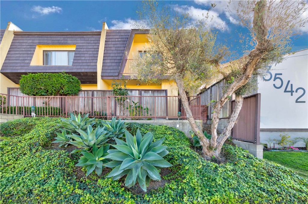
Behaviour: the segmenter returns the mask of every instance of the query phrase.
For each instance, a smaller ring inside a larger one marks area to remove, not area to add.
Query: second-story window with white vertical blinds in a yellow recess
[[[74,51],[44,51],[44,65],[72,65]]]

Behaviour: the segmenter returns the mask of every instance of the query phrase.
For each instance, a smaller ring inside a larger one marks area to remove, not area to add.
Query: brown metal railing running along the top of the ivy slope
[[[4,97],[6,98],[4,100]],[[89,114],[89,117],[111,119],[186,119],[178,96],[14,96],[1,94],[0,113],[31,117],[67,117],[70,113]],[[201,118],[199,96],[189,96],[188,104],[195,119]]]

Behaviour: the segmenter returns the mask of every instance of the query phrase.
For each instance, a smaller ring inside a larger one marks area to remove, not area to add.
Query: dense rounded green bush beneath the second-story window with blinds
[[[28,73],[19,84],[20,91],[29,96],[73,95],[81,90],[79,79],[66,73]]]

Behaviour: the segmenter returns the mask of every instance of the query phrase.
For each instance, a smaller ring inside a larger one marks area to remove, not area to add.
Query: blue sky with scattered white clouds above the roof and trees
[[[236,19],[226,12],[227,1],[164,1],[173,4],[179,12],[200,16],[209,3],[216,3],[213,24],[220,31],[218,42],[234,42],[234,32],[247,32],[235,25]],[[102,22],[109,29],[129,29],[138,20],[136,10],[140,1],[0,1],[0,28],[11,21],[23,31],[94,31],[101,30]],[[307,27],[293,41],[293,51],[308,48]],[[235,43],[239,46],[239,43]]]

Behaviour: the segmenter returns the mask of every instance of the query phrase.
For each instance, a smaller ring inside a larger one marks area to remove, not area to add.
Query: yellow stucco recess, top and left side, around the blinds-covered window
[[[76,45],[36,45],[30,65],[43,65],[43,51],[65,50],[75,51]]]

